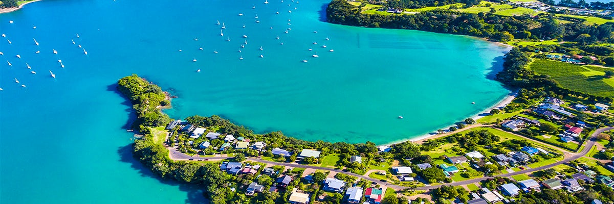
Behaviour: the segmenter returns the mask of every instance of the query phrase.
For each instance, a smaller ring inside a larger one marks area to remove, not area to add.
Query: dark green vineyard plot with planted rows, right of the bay
[[[594,94],[597,96],[614,97],[614,86],[604,81],[604,74],[595,75],[600,70],[593,66],[580,66],[560,61],[538,59],[529,65],[538,74],[552,77],[564,88]],[[588,72],[587,77],[583,72]]]

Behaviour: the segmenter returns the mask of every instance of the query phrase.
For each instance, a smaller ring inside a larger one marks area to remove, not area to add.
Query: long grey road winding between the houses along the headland
[[[537,167],[537,168],[530,168],[530,169],[526,169],[526,170],[521,170],[518,172],[512,172],[512,173],[505,173],[502,175],[497,175],[497,177],[510,177],[510,176],[515,176],[515,175],[521,175],[523,173],[531,173],[531,172],[537,172],[539,170],[544,170],[546,168],[552,168],[555,167],[556,165],[561,165],[570,161],[574,161],[576,159],[580,159],[580,157],[586,156],[586,154],[589,153],[589,151],[591,151],[591,148],[593,148],[593,146],[595,145],[596,142],[596,138],[597,135],[599,135],[602,132],[608,131],[608,130],[614,130],[614,127],[604,127],[604,128],[600,128],[595,130],[595,132],[593,132],[593,134],[591,134],[591,136],[588,138],[586,144],[585,144],[585,148],[582,149],[582,151],[580,151],[579,153],[575,153],[572,154],[572,156],[566,157],[565,159],[563,159],[562,161],[559,162],[554,162],[553,164],[548,164],[542,167]],[[229,159],[231,157],[228,156],[216,156],[216,157],[194,157],[194,156],[189,156],[187,154],[181,153],[179,151],[177,151],[175,148],[169,148],[167,146],[167,148],[169,149],[169,156],[171,157],[171,159],[173,160],[188,160],[188,159],[211,159],[211,160],[222,160],[222,159]],[[379,179],[375,179],[375,178],[370,178],[368,175],[359,175],[356,173],[352,173],[352,172],[346,172],[344,170],[341,169],[335,169],[335,168],[328,168],[328,167],[317,167],[317,166],[310,166],[310,165],[303,165],[303,164],[295,164],[295,163],[283,163],[283,162],[273,162],[273,161],[266,161],[263,159],[256,159],[256,158],[252,158],[249,157],[247,158],[247,160],[249,161],[254,161],[254,162],[261,162],[264,164],[270,164],[270,165],[281,165],[281,166],[285,166],[285,167],[293,167],[293,168],[311,168],[311,169],[316,169],[316,170],[325,170],[325,171],[330,171],[330,172],[337,172],[337,173],[344,173],[347,175],[351,175],[351,176],[356,176],[357,178],[362,178],[371,182],[375,182],[377,184],[379,184],[380,186],[385,186],[385,187],[391,187],[392,189],[396,189],[396,190],[400,190],[400,189],[407,189],[409,187],[406,186],[398,186],[395,184],[391,184],[391,183],[387,183],[384,181],[380,181]],[[462,185],[466,185],[466,184],[472,184],[472,183],[476,183],[476,182],[480,182],[480,181],[484,181],[486,179],[491,179],[494,178],[494,176],[484,176],[481,178],[474,178],[474,179],[468,179],[465,181],[457,181],[457,182],[453,182],[453,183],[449,183],[446,185],[451,185],[451,186],[462,186]],[[430,190],[430,189],[435,189],[437,187],[440,187],[441,185],[435,185],[435,186],[422,186],[422,187],[417,187],[416,190]]]

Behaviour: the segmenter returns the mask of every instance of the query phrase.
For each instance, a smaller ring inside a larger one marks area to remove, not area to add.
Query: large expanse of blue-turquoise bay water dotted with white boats
[[[45,0],[1,14],[0,202],[202,202],[132,159],[131,106],[115,92],[132,73],[179,97],[173,118],[217,114],[312,141],[415,138],[509,93],[489,79],[506,47],[331,25],[327,0],[263,1]]]

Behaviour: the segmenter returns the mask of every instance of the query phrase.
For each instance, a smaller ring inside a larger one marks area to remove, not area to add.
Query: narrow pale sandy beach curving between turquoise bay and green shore
[[[477,113],[476,115],[473,115],[473,116],[472,116],[472,117],[470,117],[470,118],[473,118],[473,119],[475,119],[475,120],[478,120],[478,119],[480,119],[480,118],[484,118],[484,116],[488,116],[488,115],[490,115],[490,114],[491,114],[491,113],[490,113],[490,111],[491,111],[491,109],[492,109],[492,108],[503,108],[503,107],[505,107],[507,104],[510,104],[510,102],[511,102],[512,100],[514,100],[514,99],[516,98],[516,96],[517,96],[517,95],[518,95],[518,91],[514,91],[514,92],[512,92],[512,93],[508,94],[508,95],[507,95],[506,97],[504,97],[503,99],[501,99],[501,100],[500,100],[500,101],[499,101],[497,104],[494,104],[494,105],[492,105],[491,107],[486,108],[486,110],[481,111],[480,113]],[[454,134],[454,133],[456,133],[456,132],[461,132],[462,130],[465,130],[465,129],[468,129],[468,128],[473,128],[473,127],[476,127],[476,126],[479,126],[479,125],[480,125],[480,124],[473,124],[473,125],[471,125],[471,126],[467,126],[467,127],[463,128],[463,129],[458,129],[458,130],[456,130],[456,131],[454,131],[454,132],[448,132],[448,133],[445,133],[445,134],[434,134],[433,132],[430,132],[429,134],[422,135],[422,136],[420,136],[420,137],[411,138],[409,141],[411,141],[411,142],[415,142],[415,143],[422,143],[422,142],[423,142],[423,141],[425,141],[425,140],[435,139],[435,138],[440,138],[440,137],[445,137],[445,136],[447,136],[447,135]],[[441,128],[441,129],[449,129],[449,128],[450,128],[450,127],[452,127],[452,126],[456,126],[456,125],[454,125],[454,124],[453,124],[453,125],[450,125],[450,126],[446,126],[446,127],[444,127],[444,128]],[[402,143],[402,142],[405,142],[405,141],[407,141],[407,139],[397,140],[397,141],[394,141],[394,142],[391,142],[391,143],[387,143],[387,144],[385,144],[385,145],[394,145],[394,144],[396,144],[396,143]]]

